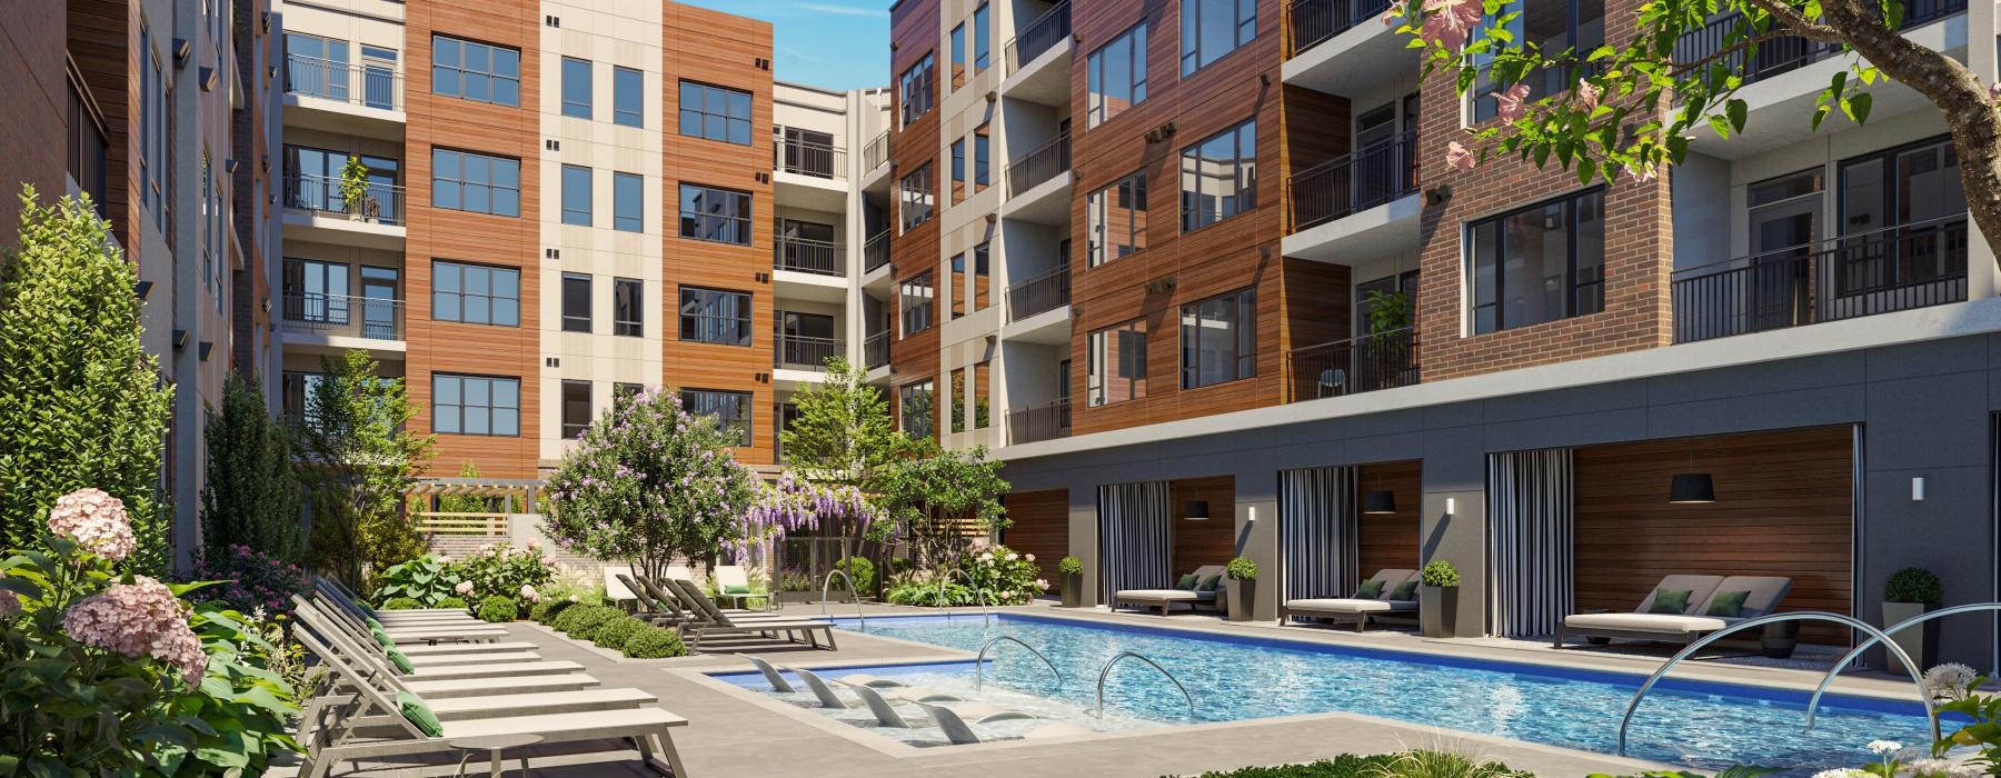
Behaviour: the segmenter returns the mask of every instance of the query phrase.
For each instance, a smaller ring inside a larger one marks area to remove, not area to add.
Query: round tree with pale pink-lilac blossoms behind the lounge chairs
[[[618,398],[548,480],[556,546],[630,560],[660,576],[674,558],[710,558],[742,540],[756,476],[730,456],[734,430],[666,390]]]

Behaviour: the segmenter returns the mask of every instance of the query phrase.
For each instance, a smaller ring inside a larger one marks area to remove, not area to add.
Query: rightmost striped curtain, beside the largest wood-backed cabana
[[[1571,450],[1487,456],[1489,632],[1555,634],[1575,606]]]

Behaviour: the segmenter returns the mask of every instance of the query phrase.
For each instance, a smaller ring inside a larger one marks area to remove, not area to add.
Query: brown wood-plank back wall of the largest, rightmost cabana
[[[1669,504],[1677,472],[1717,502]],[[1577,606],[1633,610],[1669,574],[1787,576],[1779,610],[1853,612],[1853,430],[1847,426],[1579,448]],[[1801,626],[1847,644],[1847,630]]]

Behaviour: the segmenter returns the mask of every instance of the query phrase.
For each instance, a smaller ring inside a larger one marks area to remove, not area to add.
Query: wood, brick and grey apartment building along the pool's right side
[[[1811,132],[1847,62],[1779,40],[1743,62],[1751,130],[1659,178],[1455,172],[1495,86],[1419,82],[1383,10],[892,8],[892,402],[1000,446],[1007,542],[1081,556],[1087,602],[1249,556],[1261,618],[1447,560],[1459,634],[1549,634],[1669,572],[1867,620],[1905,566],[2001,596],[1995,256],[1929,102],[1889,84]],[[1633,10],[1531,0],[1513,34],[1597,46]],[[1995,74],[1965,44],[1993,4],[1905,26]],[[1993,666],[1995,634],[1947,644]]]

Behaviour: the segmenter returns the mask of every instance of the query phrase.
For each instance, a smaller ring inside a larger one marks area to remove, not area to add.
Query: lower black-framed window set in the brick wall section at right
[[[1605,190],[1475,222],[1467,234],[1473,332],[1605,308]]]

